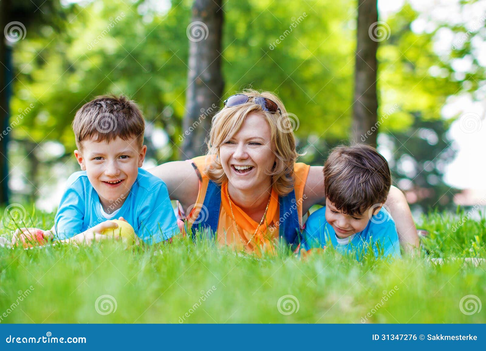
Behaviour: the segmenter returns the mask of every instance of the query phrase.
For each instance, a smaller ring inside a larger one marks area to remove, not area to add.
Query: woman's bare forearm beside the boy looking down
[[[385,205],[388,206],[395,220],[400,246],[405,252],[415,251],[420,245],[417,228],[407,200],[399,188],[395,186],[390,188]]]

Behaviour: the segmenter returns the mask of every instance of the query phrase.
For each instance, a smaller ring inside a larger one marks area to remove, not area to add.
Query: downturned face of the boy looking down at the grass
[[[376,215],[381,209],[377,207],[373,215]],[[369,217],[368,211],[364,211],[363,215],[347,215],[338,210],[334,204],[326,198],[326,221],[332,226],[336,235],[340,238],[346,238],[352,234],[362,232],[368,225]]]

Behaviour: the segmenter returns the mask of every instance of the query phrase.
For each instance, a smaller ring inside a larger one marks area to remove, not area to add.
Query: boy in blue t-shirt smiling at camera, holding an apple
[[[147,146],[135,102],[98,97],[76,112],[72,128],[82,171],[69,177],[54,226],[44,237],[78,244],[102,240],[108,237],[101,234],[105,229],[118,228],[110,221],[115,218],[127,221],[148,244],[180,233],[165,183],[139,168]],[[29,240],[30,233],[24,229],[16,236]]]

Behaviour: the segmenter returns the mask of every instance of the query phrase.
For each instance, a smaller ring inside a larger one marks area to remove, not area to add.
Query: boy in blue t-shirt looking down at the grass
[[[324,164],[326,206],[313,212],[302,233],[306,251],[332,245],[357,258],[400,257],[395,222],[382,207],[391,186],[390,168],[374,148],[358,144],[333,149]]]

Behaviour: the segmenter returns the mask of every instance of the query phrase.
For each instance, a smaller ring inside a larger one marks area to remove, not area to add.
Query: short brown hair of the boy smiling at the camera
[[[117,137],[123,140],[135,137],[141,148],[145,121],[134,101],[123,95],[102,95],[85,103],[76,112],[72,130],[78,150],[82,150],[84,140],[109,143]]]

